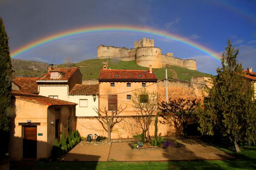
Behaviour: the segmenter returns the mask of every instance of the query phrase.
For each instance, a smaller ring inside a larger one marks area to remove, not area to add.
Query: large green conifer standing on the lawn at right
[[[246,86],[242,64],[238,63],[239,49],[227,41],[222,54],[221,68],[213,80],[213,87],[204,99],[205,111],[198,113],[199,130],[202,134],[220,134],[234,144],[240,152],[239,143],[256,142],[256,107],[252,86]]]

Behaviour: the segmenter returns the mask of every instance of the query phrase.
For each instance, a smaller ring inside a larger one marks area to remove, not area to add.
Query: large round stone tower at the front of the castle
[[[143,47],[136,50],[136,63],[137,65],[152,68],[162,68],[162,51],[156,47]]]

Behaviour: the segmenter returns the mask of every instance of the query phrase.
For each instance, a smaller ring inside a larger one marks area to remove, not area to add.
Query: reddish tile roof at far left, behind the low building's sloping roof
[[[38,93],[38,85],[36,84],[38,79],[39,77],[16,77],[12,81],[20,87],[20,91]]]

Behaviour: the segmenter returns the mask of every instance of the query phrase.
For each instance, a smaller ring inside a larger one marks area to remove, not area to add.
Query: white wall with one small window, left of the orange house
[[[80,107],[79,99],[87,99],[87,107]],[[69,102],[77,103],[76,105],[76,116],[97,116],[97,113],[93,110],[93,108],[99,107],[99,96],[96,96],[96,100],[94,102],[93,96],[80,96],[80,95],[69,95]]]

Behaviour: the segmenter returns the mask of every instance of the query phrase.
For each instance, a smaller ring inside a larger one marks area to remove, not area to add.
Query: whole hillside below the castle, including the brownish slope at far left
[[[106,59],[87,59],[78,63],[61,64],[58,67],[79,67],[83,79],[98,79],[99,71],[103,68],[102,62]],[[47,72],[47,63],[35,62],[22,59],[13,59],[13,69],[16,77],[40,77]],[[125,70],[148,70],[147,67],[137,65],[135,61],[119,61],[117,59],[108,59],[108,67],[111,69]],[[168,66],[168,77],[189,81],[191,77],[212,77],[211,74],[193,71],[177,66]],[[165,79],[165,68],[153,68],[158,79]]]

